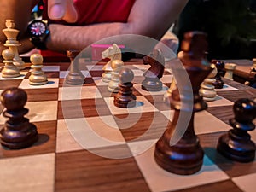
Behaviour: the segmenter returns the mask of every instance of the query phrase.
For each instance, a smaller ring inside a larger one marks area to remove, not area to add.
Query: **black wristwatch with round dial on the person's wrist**
[[[47,20],[32,20],[27,26],[32,44],[37,49],[46,49],[45,41],[49,36],[49,27]]]

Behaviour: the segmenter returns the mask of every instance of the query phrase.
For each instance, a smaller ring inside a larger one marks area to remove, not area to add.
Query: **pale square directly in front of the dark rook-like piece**
[[[60,87],[58,100],[101,98],[96,86]]]

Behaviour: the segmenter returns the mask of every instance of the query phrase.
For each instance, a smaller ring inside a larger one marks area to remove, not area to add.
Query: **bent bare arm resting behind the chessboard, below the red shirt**
[[[49,26],[47,47],[56,51],[84,49],[96,41],[119,34],[138,34],[160,39],[188,0],[137,0],[127,23],[101,23],[88,26]],[[119,39],[115,39],[119,44]],[[124,39],[120,39],[124,40]],[[123,41],[122,41],[123,42]],[[129,41],[127,42],[129,46]]]

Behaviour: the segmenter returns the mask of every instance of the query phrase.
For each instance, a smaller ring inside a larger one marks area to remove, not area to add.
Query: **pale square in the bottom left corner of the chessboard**
[[[1,159],[0,169],[1,191],[54,191],[55,153]]]

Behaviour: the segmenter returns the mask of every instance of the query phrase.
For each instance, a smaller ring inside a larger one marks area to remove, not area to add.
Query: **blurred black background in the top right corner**
[[[189,0],[174,32],[207,33],[208,59],[256,58],[256,0]]]

